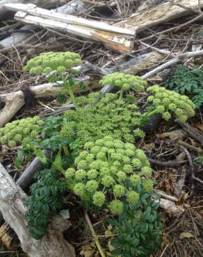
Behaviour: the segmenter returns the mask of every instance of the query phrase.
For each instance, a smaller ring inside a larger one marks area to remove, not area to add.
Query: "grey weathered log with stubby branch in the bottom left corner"
[[[3,218],[17,234],[23,251],[31,257],[75,257],[73,247],[63,238],[63,231],[70,225],[55,215],[49,226],[49,233],[41,240],[29,235],[24,215],[24,201],[27,196],[15,184],[6,169],[0,164],[0,210]]]

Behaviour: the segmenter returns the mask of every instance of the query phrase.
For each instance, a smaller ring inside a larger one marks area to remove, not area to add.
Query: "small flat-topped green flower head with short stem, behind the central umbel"
[[[122,100],[123,92],[129,89],[136,89],[140,92],[145,91],[145,86],[147,86],[147,81],[144,81],[139,76],[134,76],[130,74],[124,74],[122,72],[114,72],[104,76],[104,78],[99,81],[101,85],[113,85],[120,88],[120,97]]]

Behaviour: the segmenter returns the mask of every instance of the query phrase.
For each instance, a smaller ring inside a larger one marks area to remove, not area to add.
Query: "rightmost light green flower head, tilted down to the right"
[[[195,115],[195,104],[184,95],[166,90],[159,85],[147,88],[147,92],[152,93],[147,101],[151,104],[150,108],[154,108],[152,112],[146,114],[147,117],[161,113],[163,119],[168,121],[172,117],[172,113],[181,122],[186,122],[188,117]]]

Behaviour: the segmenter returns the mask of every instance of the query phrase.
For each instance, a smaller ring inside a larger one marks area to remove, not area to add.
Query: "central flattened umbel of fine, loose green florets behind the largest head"
[[[98,101],[99,94],[78,99],[79,111],[69,110],[65,113],[61,134],[69,140],[70,148],[83,148],[88,141],[95,141],[111,135],[124,142],[134,142],[143,138],[145,133],[139,128],[145,124],[138,107],[119,100],[116,94],[106,94]],[[75,139],[75,140],[74,140]]]

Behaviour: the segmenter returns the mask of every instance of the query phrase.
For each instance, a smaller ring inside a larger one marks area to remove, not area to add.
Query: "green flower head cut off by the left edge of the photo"
[[[26,138],[36,138],[40,133],[44,122],[40,117],[18,119],[0,128],[1,144],[8,144],[9,147],[16,147],[22,144]]]

